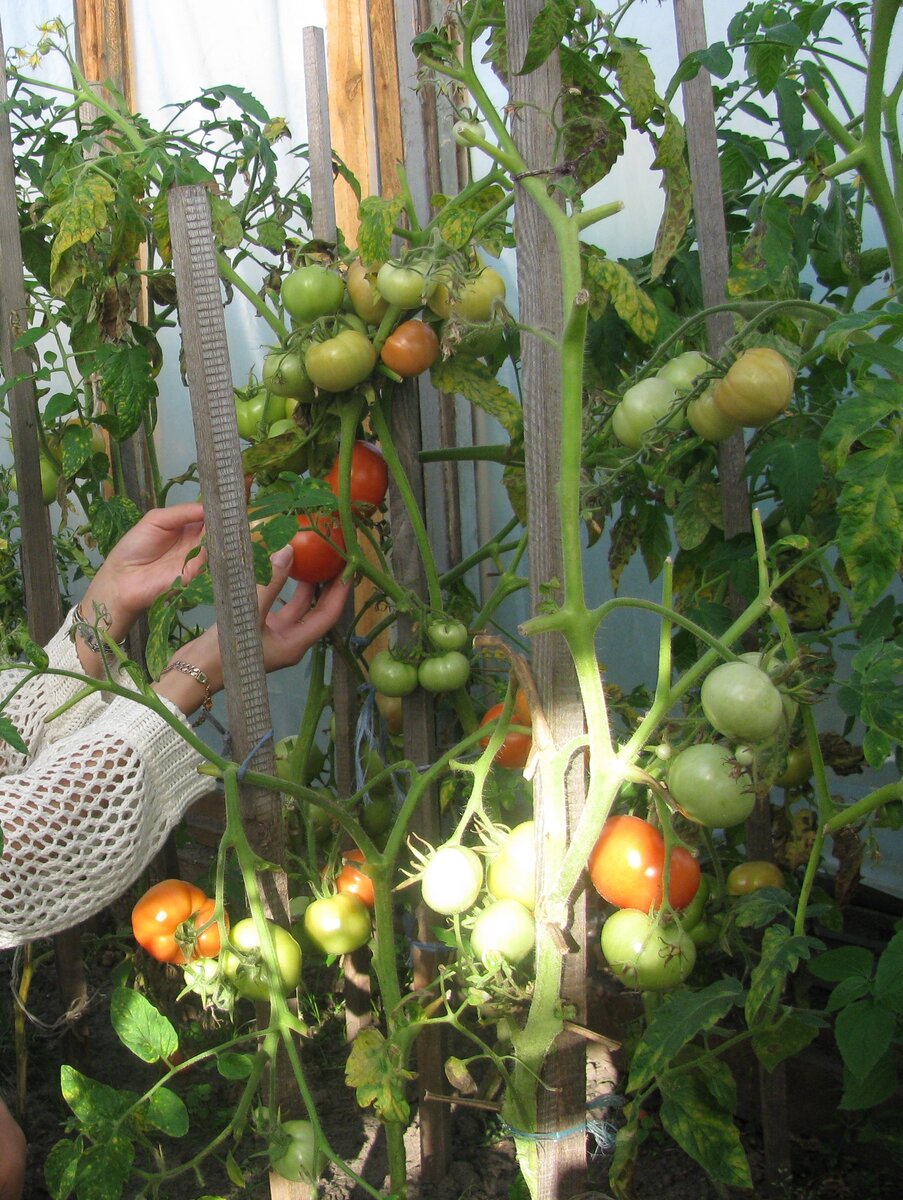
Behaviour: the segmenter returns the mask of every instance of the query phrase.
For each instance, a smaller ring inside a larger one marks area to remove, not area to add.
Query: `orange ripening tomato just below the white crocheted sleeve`
[[[215,901],[201,888],[184,880],[162,880],[149,888],[132,908],[132,932],[142,946],[159,962],[185,962],[183,941],[189,948],[195,930],[213,917]],[[192,928],[180,932],[179,926],[191,920]],[[223,914],[226,928],[228,919]],[[178,935],[178,936],[177,936]],[[220,953],[219,925],[210,925],[193,938],[192,959],[215,958]]]

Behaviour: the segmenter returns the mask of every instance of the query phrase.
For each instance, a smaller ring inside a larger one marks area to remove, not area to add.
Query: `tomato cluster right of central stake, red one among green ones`
[[[783,739],[794,720],[795,702],[760,661],[758,654],[743,655],[708,672],[700,691],[708,737],[668,760],[668,797],[696,826],[726,829],[749,817],[755,786],[740,760],[752,761],[759,750]],[[616,908],[602,928],[605,960],[616,978],[641,991],[683,983],[698,949],[720,936],[725,896],[784,887],[783,872],[770,862],[738,863],[716,887],[695,856],[675,844],[664,905],[665,852],[656,826],[616,815],[603,826],[587,864],[593,887]]]

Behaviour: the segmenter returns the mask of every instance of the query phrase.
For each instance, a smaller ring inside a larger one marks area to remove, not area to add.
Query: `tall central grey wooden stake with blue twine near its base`
[[[552,114],[561,96],[557,55],[551,55],[527,76],[516,74],[526,55],[530,30],[544,0],[508,0],[510,102],[520,106],[518,142],[531,168],[554,161],[555,128]],[[515,193],[518,224],[518,294],[521,338],[521,379],[524,389],[524,449],[527,470],[527,523],[530,528],[531,606],[537,612],[546,599],[546,581],[563,577],[557,485],[561,457],[561,361],[556,346],[526,332],[543,329],[560,338],[563,330],[562,282],[558,252],[546,218],[532,200]],[[537,288],[533,281],[543,280]],[[556,745],[584,732],[582,704],[574,665],[567,644],[558,635],[543,635],[531,646],[531,665],[543,700]],[[580,760],[566,781],[568,824],[573,828],[584,803],[584,778]],[[537,895],[548,894],[556,880],[554,865],[544,852],[546,815],[543,784],[533,784],[533,811],[537,822]],[[586,1019],[586,900],[581,893],[574,904],[570,925],[576,949],[562,955],[561,1001]],[[548,932],[538,930],[538,936]],[[562,1033],[552,1045],[543,1068],[544,1087],[537,1098],[537,1130],[560,1133],[575,1129],[570,1136],[540,1140],[538,1151],[538,1194],[557,1200],[581,1192],[586,1182],[586,1048],[575,1033]]]

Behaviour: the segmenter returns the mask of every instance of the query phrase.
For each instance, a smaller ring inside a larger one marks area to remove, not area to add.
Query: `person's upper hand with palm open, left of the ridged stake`
[[[142,613],[181,578],[195,578],[207,562],[201,545],[204,509],[197,503],[151,509],[113,547],[82,600],[85,619],[95,606],[109,616],[109,632],[121,642]]]

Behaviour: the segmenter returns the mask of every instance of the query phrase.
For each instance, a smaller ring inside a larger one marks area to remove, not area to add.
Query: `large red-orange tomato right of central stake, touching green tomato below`
[[[599,895],[617,908],[658,908],[664,896],[664,838],[640,817],[609,817],[590,854],[590,877]],[[699,888],[699,863],[683,846],[671,852],[669,899],[686,908]]]

